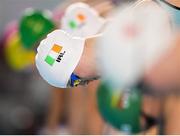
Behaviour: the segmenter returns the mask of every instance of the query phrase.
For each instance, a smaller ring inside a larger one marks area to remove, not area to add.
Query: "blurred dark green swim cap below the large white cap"
[[[141,94],[113,91],[107,82],[100,84],[97,91],[98,109],[103,119],[127,134],[138,133],[141,115]]]

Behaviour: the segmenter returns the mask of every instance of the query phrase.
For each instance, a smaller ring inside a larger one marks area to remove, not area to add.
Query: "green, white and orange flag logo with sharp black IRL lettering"
[[[53,66],[55,62],[60,62],[62,57],[65,54],[65,51],[62,51],[62,46],[54,44],[48,55],[45,58],[45,62],[50,66]]]

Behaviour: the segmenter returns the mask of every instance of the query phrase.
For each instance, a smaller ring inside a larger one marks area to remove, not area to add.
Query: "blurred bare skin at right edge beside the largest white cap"
[[[180,86],[180,34],[172,43],[173,48],[160,58],[145,75],[146,82],[160,91],[170,91]]]

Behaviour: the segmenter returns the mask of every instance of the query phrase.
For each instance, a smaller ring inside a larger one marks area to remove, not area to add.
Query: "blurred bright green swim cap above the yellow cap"
[[[19,32],[23,46],[26,49],[33,49],[35,44],[55,29],[49,11],[27,9],[19,24]]]

